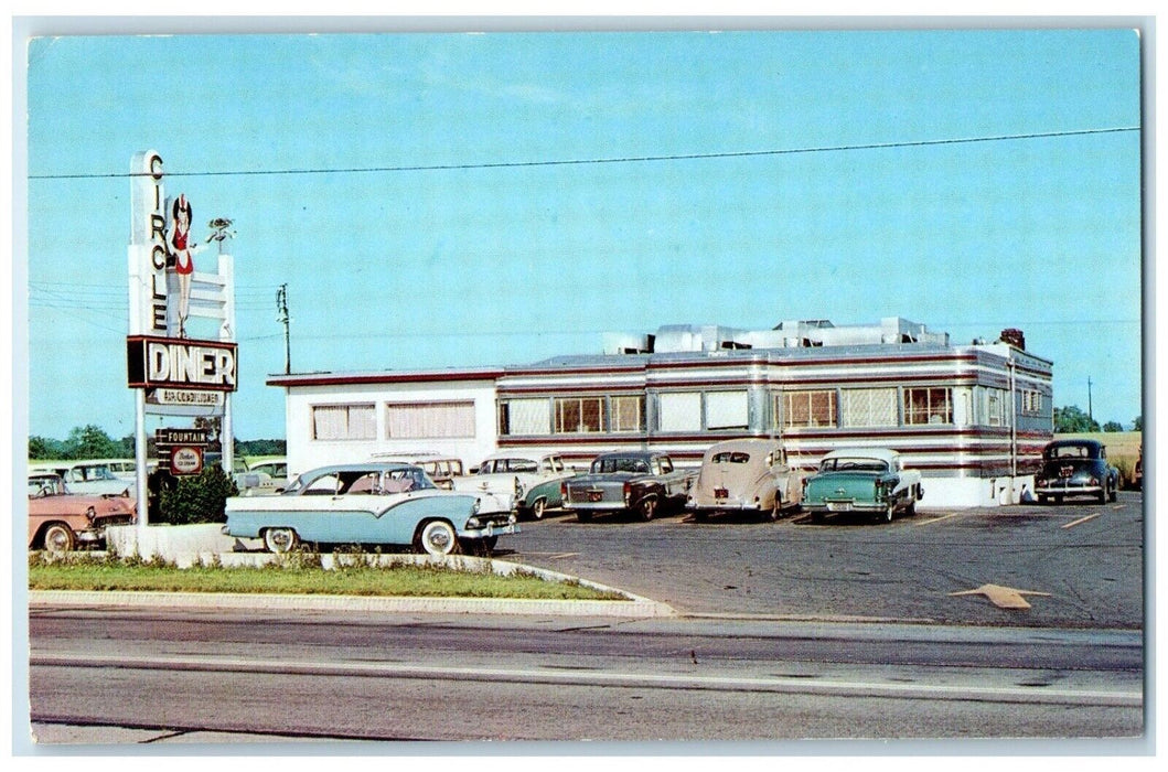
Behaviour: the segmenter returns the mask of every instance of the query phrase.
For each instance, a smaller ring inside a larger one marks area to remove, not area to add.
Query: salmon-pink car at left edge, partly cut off
[[[105,543],[109,526],[137,521],[134,500],[70,493],[60,474],[28,475],[28,547],[54,554]]]

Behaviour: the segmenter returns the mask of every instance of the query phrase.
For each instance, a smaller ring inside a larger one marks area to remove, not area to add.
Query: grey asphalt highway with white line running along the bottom
[[[116,607],[34,608],[30,630],[49,744],[1142,731],[1133,632]]]

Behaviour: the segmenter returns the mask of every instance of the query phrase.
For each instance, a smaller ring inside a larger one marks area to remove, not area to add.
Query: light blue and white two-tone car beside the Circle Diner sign
[[[489,495],[445,491],[412,464],[326,466],[298,477],[276,496],[227,500],[223,533],[262,538],[272,552],[300,542],[395,544],[449,555],[465,543],[489,551],[500,535],[517,534],[516,517]]]

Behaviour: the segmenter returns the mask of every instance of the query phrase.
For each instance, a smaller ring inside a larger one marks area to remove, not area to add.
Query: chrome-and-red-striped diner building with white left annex
[[[924,477],[922,507],[1017,502],[1052,437],[1052,363],[1020,331],[954,345],[888,318],[772,329],[665,326],[611,334],[599,354],[496,368],[273,375],[286,391],[290,471],[376,453],[500,451],[585,468],[621,448],[696,466],[711,444],[776,437],[814,470],[839,447],[888,447]]]

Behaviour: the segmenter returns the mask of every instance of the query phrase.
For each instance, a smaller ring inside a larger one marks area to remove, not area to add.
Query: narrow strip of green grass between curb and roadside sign
[[[531,600],[627,600],[575,580],[550,582],[530,573],[499,576],[427,565],[284,564],[263,568],[192,566],[117,559],[30,558],[29,590],[230,592]]]

